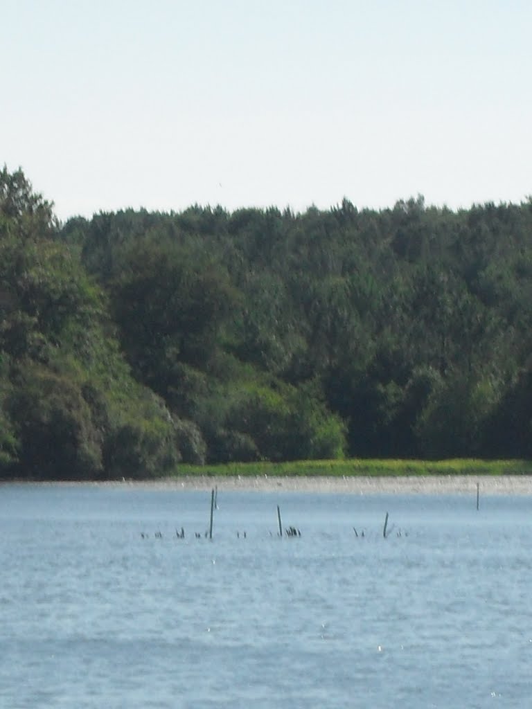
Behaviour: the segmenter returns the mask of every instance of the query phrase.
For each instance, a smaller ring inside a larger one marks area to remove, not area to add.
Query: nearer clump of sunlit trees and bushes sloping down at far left
[[[104,293],[56,229],[50,204],[21,171],[4,168],[1,474],[94,479],[173,469],[179,449],[172,417],[131,378]]]

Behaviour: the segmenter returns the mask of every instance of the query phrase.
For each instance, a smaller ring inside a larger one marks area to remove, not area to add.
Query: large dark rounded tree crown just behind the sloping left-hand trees
[[[111,306],[133,371],[163,396],[179,363],[205,365],[234,299],[224,277],[172,243],[138,240],[122,254]]]

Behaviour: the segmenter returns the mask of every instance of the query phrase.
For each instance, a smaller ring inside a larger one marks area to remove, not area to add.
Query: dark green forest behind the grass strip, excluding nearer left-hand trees
[[[346,441],[352,455],[489,450],[529,352],[531,230],[526,205],[418,197],[380,213],[128,211],[68,238],[109,288],[135,376],[214,462],[340,456]]]

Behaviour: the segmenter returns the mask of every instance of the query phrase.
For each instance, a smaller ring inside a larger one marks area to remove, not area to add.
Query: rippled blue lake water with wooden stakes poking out
[[[481,503],[0,486],[0,706],[530,709],[532,498]]]

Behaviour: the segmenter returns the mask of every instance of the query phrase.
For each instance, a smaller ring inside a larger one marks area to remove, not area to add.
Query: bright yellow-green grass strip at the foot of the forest
[[[532,475],[529,460],[305,460],[286,463],[179,465],[175,476],[406,476],[406,475]]]

